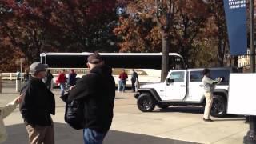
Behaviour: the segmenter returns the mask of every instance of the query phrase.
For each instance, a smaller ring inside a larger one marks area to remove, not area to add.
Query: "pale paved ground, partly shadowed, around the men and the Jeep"
[[[56,96],[57,113],[54,116],[56,143],[82,143],[82,131],[72,130],[63,121],[64,103]],[[0,106],[10,102],[18,94],[13,83],[4,83],[0,94]],[[106,144],[165,144],[165,143],[242,143],[248,130],[244,118],[228,116],[213,118],[214,122],[202,121],[200,106],[170,106],[166,110],[156,108],[152,113],[142,113],[136,106],[132,93],[117,93],[114,105],[114,121]],[[26,143],[26,131],[18,109],[5,119],[9,139],[7,144]]]

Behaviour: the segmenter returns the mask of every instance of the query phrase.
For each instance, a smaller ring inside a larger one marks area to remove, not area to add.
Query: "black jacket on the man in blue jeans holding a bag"
[[[115,82],[111,73],[108,66],[96,66],[70,90],[68,101],[85,102],[85,128],[98,132],[110,129],[115,97]]]

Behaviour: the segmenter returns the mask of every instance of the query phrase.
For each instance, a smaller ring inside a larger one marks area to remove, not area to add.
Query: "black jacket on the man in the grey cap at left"
[[[25,94],[20,104],[22,118],[31,126],[50,126],[50,114],[55,114],[54,94],[47,89],[42,80],[31,77],[22,87],[21,94]]]

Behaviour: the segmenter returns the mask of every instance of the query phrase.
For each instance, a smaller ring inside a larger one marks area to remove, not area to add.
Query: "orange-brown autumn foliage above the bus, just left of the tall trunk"
[[[123,15],[114,29],[121,52],[161,52],[157,23],[147,14]]]

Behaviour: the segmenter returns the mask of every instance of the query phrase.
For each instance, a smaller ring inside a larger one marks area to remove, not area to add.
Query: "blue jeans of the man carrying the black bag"
[[[85,144],[102,144],[105,136],[106,133],[98,133],[88,128],[83,130],[83,140]]]

